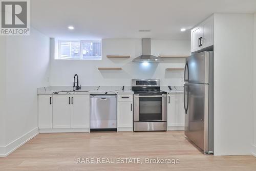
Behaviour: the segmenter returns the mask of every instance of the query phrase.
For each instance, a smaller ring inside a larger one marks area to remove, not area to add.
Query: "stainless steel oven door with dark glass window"
[[[166,121],[166,94],[134,95],[134,121]]]

